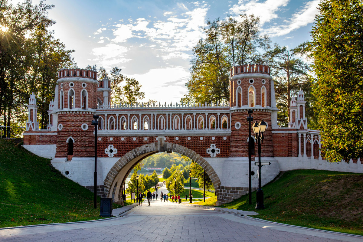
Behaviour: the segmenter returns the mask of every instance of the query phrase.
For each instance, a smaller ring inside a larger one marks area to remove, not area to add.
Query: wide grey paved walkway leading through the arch
[[[120,210],[121,211],[121,210]],[[172,202],[142,206],[102,221],[1,229],[0,242],[362,242],[347,235],[256,220]]]

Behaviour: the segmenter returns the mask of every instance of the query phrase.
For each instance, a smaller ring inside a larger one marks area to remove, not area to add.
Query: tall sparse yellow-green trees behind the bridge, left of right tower
[[[228,103],[231,66],[261,62],[258,50],[269,47],[269,38],[258,30],[259,21],[253,15],[242,15],[240,21],[231,17],[208,20],[208,28],[203,29],[205,39],[193,48],[195,58],[185,84],[188,94],[181,101]]]

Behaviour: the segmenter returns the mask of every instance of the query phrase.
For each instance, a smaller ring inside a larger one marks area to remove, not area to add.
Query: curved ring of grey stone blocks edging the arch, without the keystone
[[[205,160],[202,156],[200,156],[195,151],[193,151],[187,147],[181,146],[179,144],[164,142],[163,146],[164,146],[163,147],[164,151],[171,151],[171,152],[179,153],[181,155],[185,155],[185,156],[189,157],[190,159],[192,159],[193,161],[195,161],[198,165],[200,165],[204,169],[205,173],[211,179],[211,181],[214,185],[214,188],[215,188],[216,195],[217,195],[217,201],[219,201],[221,182],[220,182],[220,179],[219,179],[217,173],[215,172],[213,167],[208,163],[207,160]],[[116,179],[118,173],[121,171],[121,169],[123,167],[125,167],[125,165],[127,163],[129,163],[130,161],[134,160],[135,158],[142,156],[146,153],[158,152],[158,151],[159,151],[159,146],[158,146],[158,143],[155,142],[155,143],[145,144],[140,147],[134,148],[131,151],[127,152],[125,155],[123,155],[113,165],[113,167],[110,169],[109,173],[107,174],[107,176],[105,178],[104,188],[105,188],[106,197],[111,196],[111,194],[110,194],[111,186],[112,186],[114,180]]]

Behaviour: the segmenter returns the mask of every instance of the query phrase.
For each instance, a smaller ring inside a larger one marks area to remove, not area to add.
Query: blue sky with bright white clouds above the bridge
[[[17,3],[20,0],[13,0]],[[38,0],[33,0],[37,3]],[[49,17],[78,67],[103,66],[136,78],[143,101],[179,102],[187,94],[191,49],[208,19],[240,14],[260,17],[261,33],[293,48],[310,40],[319,0],[46,0]]]

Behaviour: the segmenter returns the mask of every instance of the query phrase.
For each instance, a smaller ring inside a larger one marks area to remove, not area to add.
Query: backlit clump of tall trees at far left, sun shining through
[[[43,100],[49,102],[51,94],[54,96],[54,89],[49,87],[54,86],[55,73],[51,72],[62,66],[62,54],[69,55],[72,51],[65,50],[64,45],[54,40],[47,30],[54,23],[47,16],[53,7],[44,1],[38,5],[32,5],[31,0],[17,5],[0,1],[0,116],[4,126],[19,122],[25,125],[25,109],[19,106],[26,103],[32,91],[40,100],[40,113],[44,109]],[[44,53],[37,56],[43,50]],[[28,86],[28,81],[34,77],[40,79],[40,83]],[[44,127],[47,117],[42,116],[41,127]]]

